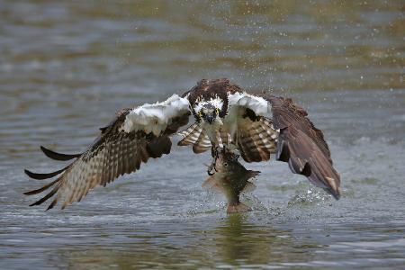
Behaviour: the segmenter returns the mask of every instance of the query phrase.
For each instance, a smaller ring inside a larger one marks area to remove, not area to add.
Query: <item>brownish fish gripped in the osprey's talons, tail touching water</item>
[[[240,202],[240,193],[249,193],[256,185],[249,181],[259,175],[259,171],[247,170],[238,162],[238,155],[229,148],[221,148],[208,169],[210,175],[202,187],[212,192],[222,193],[228,201],[227,213],[251,211],[245,203]]]

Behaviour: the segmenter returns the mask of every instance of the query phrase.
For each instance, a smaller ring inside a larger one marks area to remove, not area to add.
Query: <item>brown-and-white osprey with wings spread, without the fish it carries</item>
[[[189,116],[195,121],[185,130]],[[181,96],[166,101],[123,109],[105,127],[94,143],[79,154],[61,154],[40,147],[52,159],[74,161],[52,173],[25,173],[42,180],[58,176],[40,189],[24,194],[49,193],[32,205],[53,197],[48,209],[62,201],[62,209],[79,202],[96,185],[105,186],[123,174],[130,174],[149,157],[169,154],[171,137],[183,138],[180,146],[192,146],[194,153],[229,148],[246,162],[275,159],[287,162],[294,174],[305,175],[336,199],[340,176],[330,157],[323,134],[307,118],[307,112],[291,99],[272,94],[248,94],[228,79],[202,80]],[[215,160],[214,160],[215,162]]]

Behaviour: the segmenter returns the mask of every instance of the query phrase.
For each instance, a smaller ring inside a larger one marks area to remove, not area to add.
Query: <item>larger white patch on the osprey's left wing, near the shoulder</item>
[[[186,98],[173,94],[161,103],[143,104],[134,108],[125,118],[121,130],[130,132],[144,130],[147,134],[153,132],[158,136],[166,130],[167,124],[176,117],[189,111],[190,103]]]

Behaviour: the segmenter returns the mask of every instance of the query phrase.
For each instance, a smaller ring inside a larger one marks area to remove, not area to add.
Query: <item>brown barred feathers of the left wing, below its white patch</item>
[[[140,164],[146,163],[148,158],[168,154],[172,145],[168,136],[185,125],[190,115],[187,112],[173,118],[163,134],[156,137],[152,133],[146,134],[140,130],[131,132],[121,130],[129,112],[130,109],[121,111],[110,125],[102,129],[102,134],[94,144],[67,166],[58,179],[38,190],[25,193],[27,195],[40,193],[53,186],[48,194],[31,205],[45,202],[56,194],[48,209],[54,207],[59,200],[63,200],[63,209],[72,202],[79,202],[95,186],[108,184],[120,175],[138,170]],[[34,176],[41,178],[43,175],[34,174]]]

